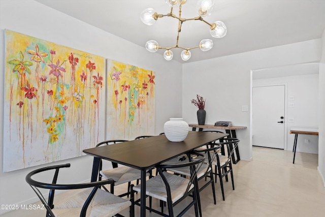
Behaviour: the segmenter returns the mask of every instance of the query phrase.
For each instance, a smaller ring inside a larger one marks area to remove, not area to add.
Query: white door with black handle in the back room
[[[284,85],[253,87],[253,145],[284,149]]]

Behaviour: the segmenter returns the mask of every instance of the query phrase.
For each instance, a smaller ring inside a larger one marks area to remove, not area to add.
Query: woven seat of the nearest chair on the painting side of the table
[[[141,178],[140,170],[126,166],[100,171],[100,173],[106,179],[113,179],[115,181],[114,185],[119,185]]]

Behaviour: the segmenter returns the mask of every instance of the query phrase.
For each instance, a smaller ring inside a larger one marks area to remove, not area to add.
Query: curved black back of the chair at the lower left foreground
[[[56,166],[49,166],[40,168],[34,171],[29,172],[26,175],[26,182],[30,185],[32,190],[36,193],[36,195],[40,198],[41,202],[44,204],[47,213],[46,216],[48,217],[54,217],[54,213],[52,212],[52,209],[54,208],[53,201],[54,201],[54,192],[55,190],[72,190],[72,189],[85,189],[85,188],[93,188],[90,195],[88,196],[87,200],[85,201],[80,216],[86,216],[87,208],[90,204],[90,201],[94,197],[96,191],[105,184],[113,183],[112,179],[103,180],[103,181],[96,181],[96,182],[88,182],[88,183],[81,183],[81,184],[56,184],[59,169],[60,168],[67,168],[70,167],[70,164],[62,164],[62,165],[56,165]],[[45,183],[40,182],[32,178],[35,174],[45,172],[48,170],[55,170],[54,176],[52,179],[52,183]],[[48,189],[49,190],[49,198],[48,201],[44,198],[43,194],[40,191],[41,189]]]

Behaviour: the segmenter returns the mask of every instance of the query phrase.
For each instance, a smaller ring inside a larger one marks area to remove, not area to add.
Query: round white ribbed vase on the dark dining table
[[[169,121],[164,124],[164,132],[171,142],[184,141],[188,134],[188,123],[183,118],[169,118]]]

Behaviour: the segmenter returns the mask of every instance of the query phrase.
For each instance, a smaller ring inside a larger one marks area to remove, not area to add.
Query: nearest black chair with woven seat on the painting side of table
[[[101,145],[111,145],[121,142],[126,142],[127,140],[107,140],[104,142],[101,142],[96,145],[96,147],[99,147]],[[132,167],[127,166],[121,166],[119,167],[117,163],[112,162],[112,169],[103,170],[103,162],[100,160],[100,174],[99,174],[99,180],[102,180],[102,177],[105,179],[113,179],[114,182],[111,183],[110,192],[114,194],[114,186],[128,183],[127,185],[127,192],[124,194],[119,195],[120,197],[128,196],[130,194],[130,188],[131,188],[131,181],[139,180],[141,177],[141,171]],[[105,187],[103,187],[106,191],[108,191]]]

